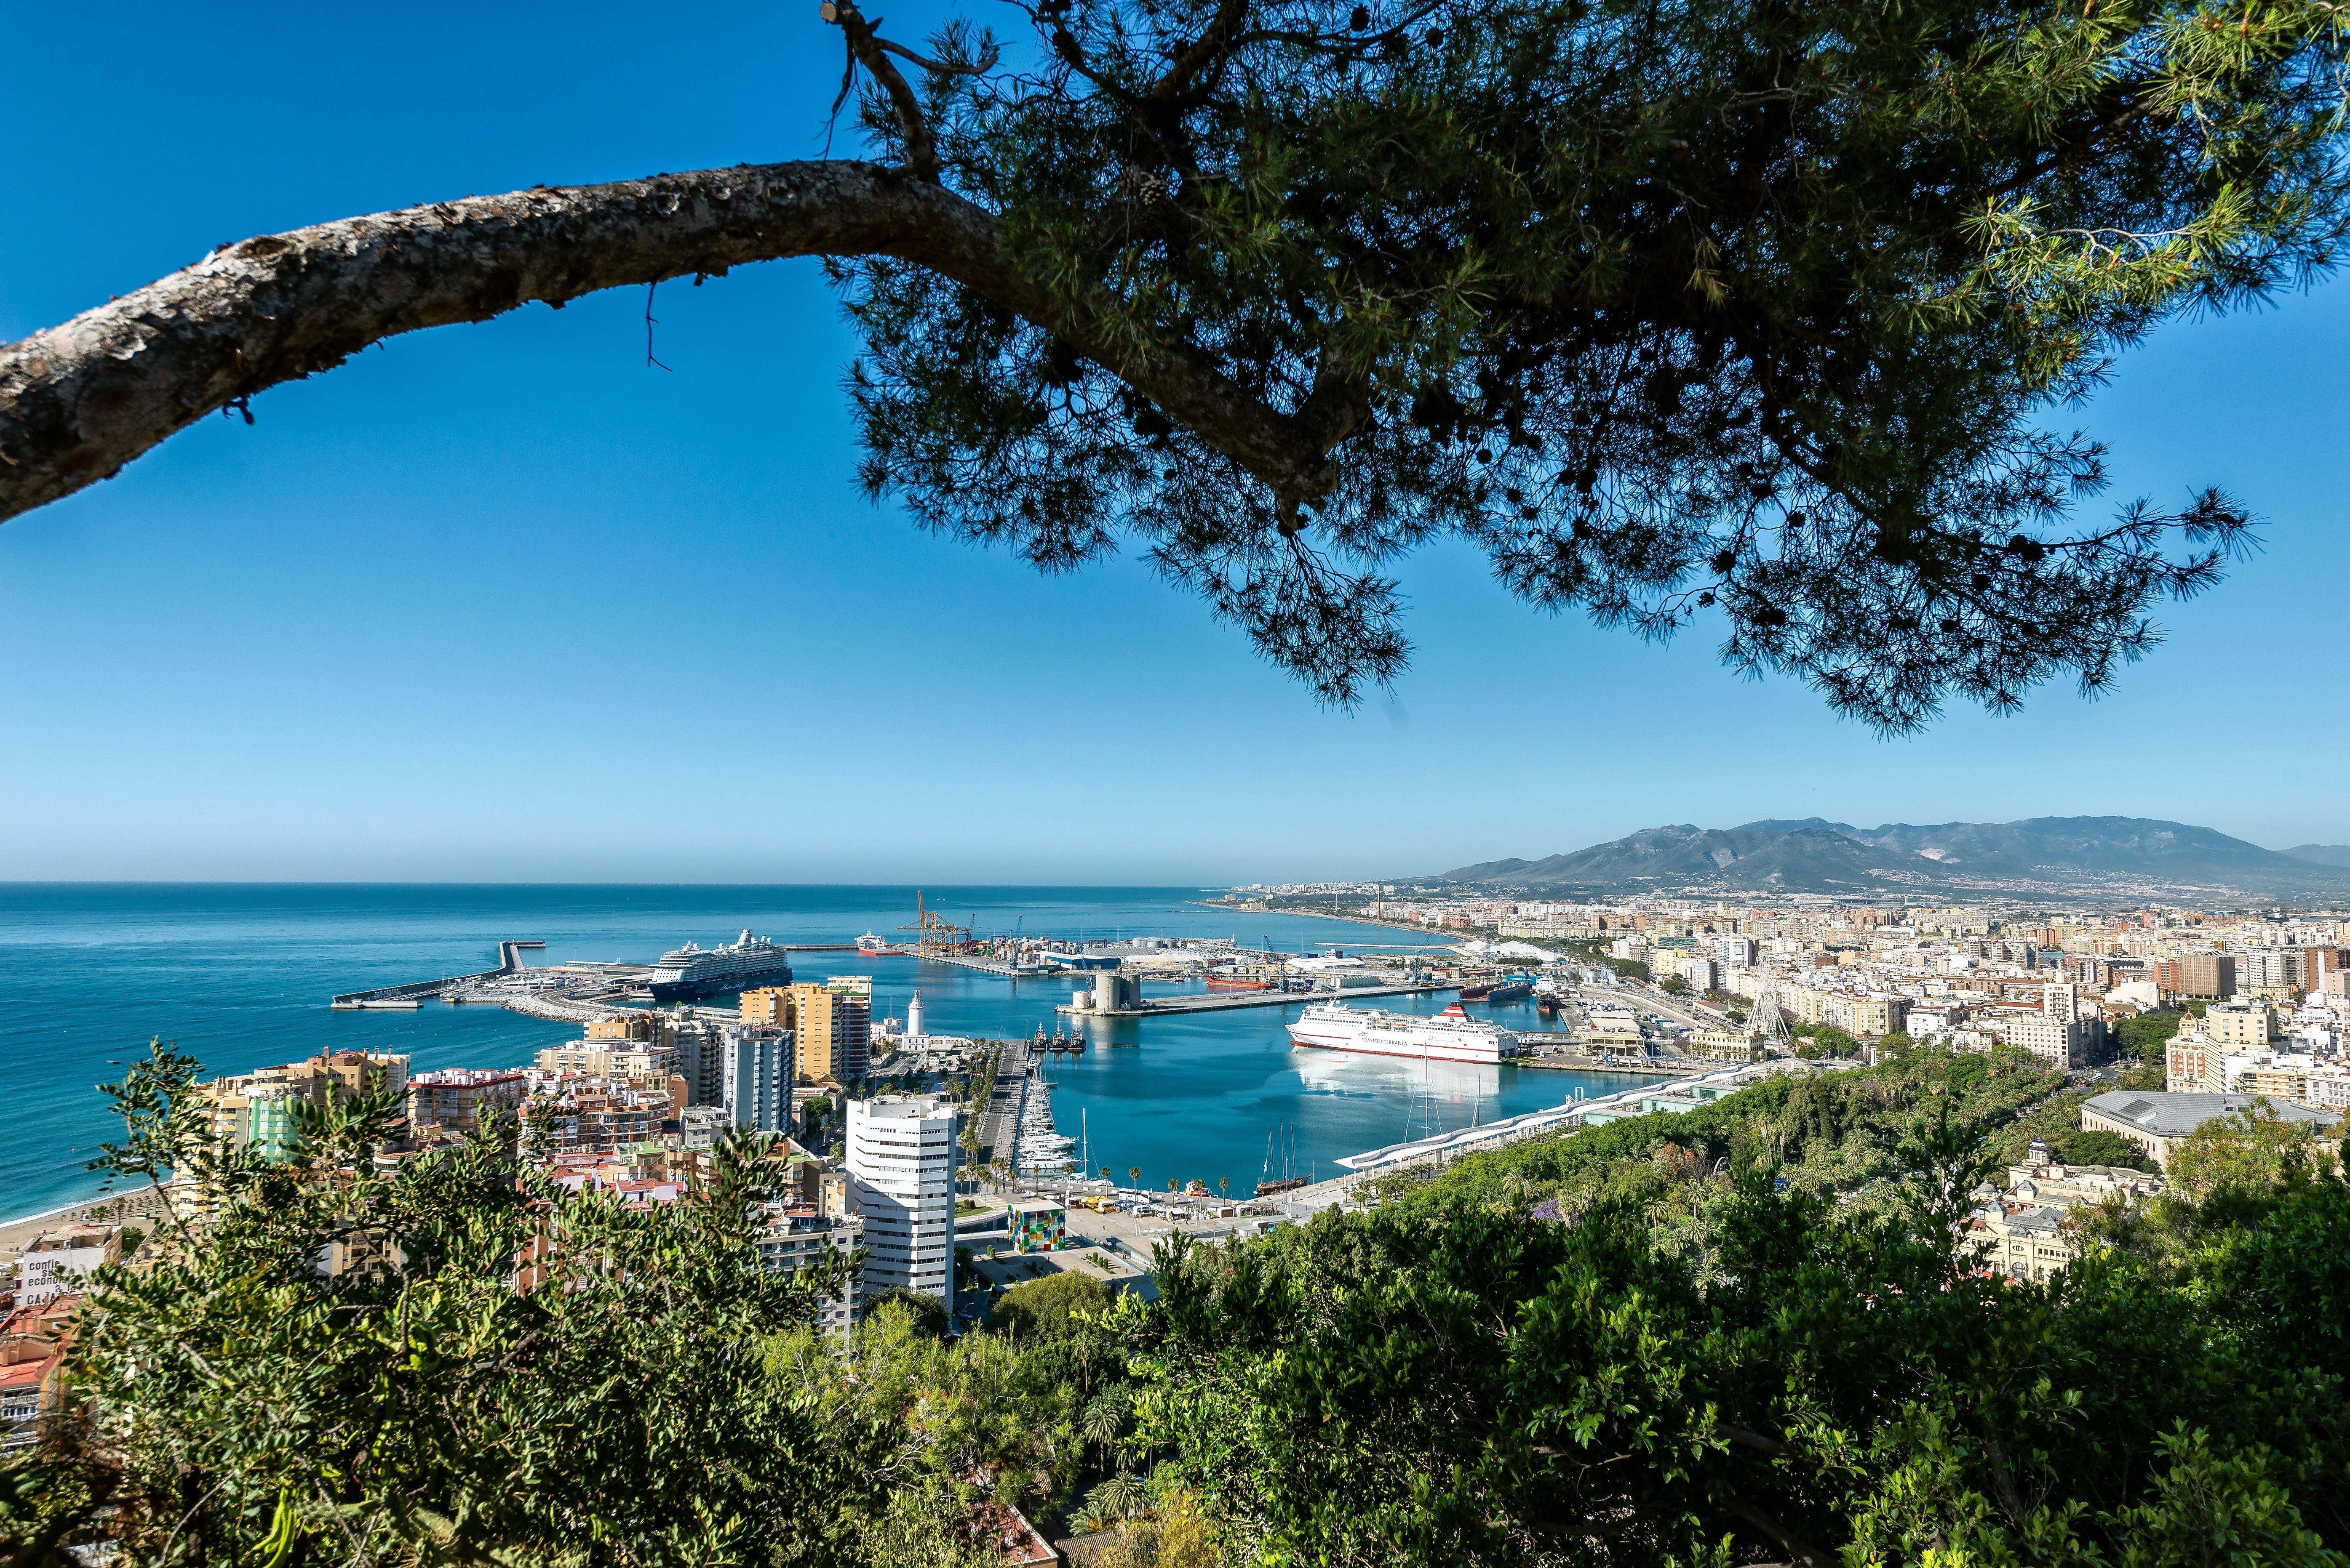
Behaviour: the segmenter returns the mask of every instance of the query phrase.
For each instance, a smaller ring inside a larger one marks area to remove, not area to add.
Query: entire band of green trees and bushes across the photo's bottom
[[[381,1171],[385,1101],[308,1115],[284,1167],[202,1150],[190,1075],[136,1068],[108,1157],[202,1160],[219,1216],[99,1279],[75,1418],[0,1465],[12,1561],[980,1568],[1006,1505],[1109,1530],[1109,1568],[2343,1568],[2350,1540],[2350,1188],[2305,1129],[2223,1122],[2061,1279],[1976,1275],[1953,1223],[2066,1103],[2021,1054],[1476,1155],[1177,1242],[1159,1305],[1058,1275],[959,1340],[907,1300],[813,1326],[750,1246],[764,1141],[632,1211],[503,1129]]]

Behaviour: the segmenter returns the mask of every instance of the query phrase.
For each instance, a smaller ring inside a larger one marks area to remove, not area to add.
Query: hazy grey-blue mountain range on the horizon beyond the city
[[[1445,871],[1445,883],[1539,892],[1885,892],[2237,894],[2350,892],[2350,845],[2277,852],[2216,829],[2148,817],[2028,817],[2023,822],[1748,822],[1643,829],[1626,838]]]

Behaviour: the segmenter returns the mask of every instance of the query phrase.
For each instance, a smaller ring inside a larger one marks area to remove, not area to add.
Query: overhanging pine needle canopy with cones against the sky
[[[2073,523],[2103,455],[2047,411],[2345,221],[2312,0],[1022,9],[865,127],[916,176],[935,138],[1058,315],[844,261],[865,481],[1048,570],[1128,540],[1330,699],[1445,535],[1885,728],[2099,688],[2244,514]],[[1121,376],[1175,361],[1229,418]]]

